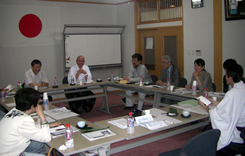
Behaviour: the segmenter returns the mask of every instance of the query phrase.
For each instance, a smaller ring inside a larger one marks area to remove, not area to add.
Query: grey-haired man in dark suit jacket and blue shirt
[[[178,67],[172,64],[170,56],[164,55],[161,58],[162,71],[160,79],[157,81],[157,85],[166,86],[167,80],[169,78],[170,84],[178,86],[180,82],[180,70]]]

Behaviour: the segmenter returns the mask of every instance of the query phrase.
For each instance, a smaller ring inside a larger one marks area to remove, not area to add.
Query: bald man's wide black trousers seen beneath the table
[[[83,88],[83,89],[87,89],[87,88]],[[69,90],[76,90],[76,89],[69,89]],[[91,92],[90,90],[88,90],[88,91],[81,91],[81,92],[76,92],[76,93],[68,93],[65,95],[66,95],[67,99],[71,99],[71,98],[94,95],[94,93]],[[68,103],[69,103],[69,106],[70,106],[72,111],[80,114],[80,113],[82,113],[83,110],[85,112],[90,112],[94,107],[95,100],[96,100],[96,98],[91,98],[91,99],[70,101]]]

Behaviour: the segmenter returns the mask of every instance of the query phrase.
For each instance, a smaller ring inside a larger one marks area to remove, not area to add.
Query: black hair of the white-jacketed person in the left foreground
[[[37,106],[40,99],[40,93],[33,88],[19,89],[15,96],[16,109],[26,111],[31,109],[31,106]]]

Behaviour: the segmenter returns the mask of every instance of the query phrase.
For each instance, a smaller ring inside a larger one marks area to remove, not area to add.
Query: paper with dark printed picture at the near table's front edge
[[[94,131],[94,132],[82,134],[82,136],[84,136],[89,141],[94,141],[94,140],[110,137],[113,135],[116,135],[116,134],[111,132],[109,129],[104,129],[104,130],[99,130],[99,131]]]

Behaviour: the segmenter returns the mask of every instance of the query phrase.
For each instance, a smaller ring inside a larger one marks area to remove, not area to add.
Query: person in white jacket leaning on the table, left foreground
[[[61,123],[47,123],[43,107],[38,105],[39,95],[40,93],[32,88],[23,88],[16,92],[16,107],[0,121],[0,155],[28,155],[24,151],[32,141],[49,142],[51,140],[49,127],[58,126]],[[30,116],[35,112],[40,117],[40,128],[36,127],[35,121]]]

